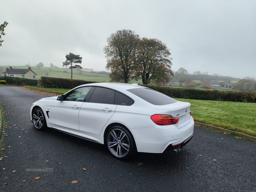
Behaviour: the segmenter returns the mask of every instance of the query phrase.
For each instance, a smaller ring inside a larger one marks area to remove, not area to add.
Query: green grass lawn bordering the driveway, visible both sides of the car
[[[58,95],[69,91],[69,89],[24,87]],[[192,116],[196,122],[256,137],[256,103],[175,99],[191,103]]]

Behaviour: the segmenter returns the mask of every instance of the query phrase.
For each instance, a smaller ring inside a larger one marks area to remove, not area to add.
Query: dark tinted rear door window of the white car
[[[115,104],[115,91],[103,87],[96,87],[93,91],[89,102]]]

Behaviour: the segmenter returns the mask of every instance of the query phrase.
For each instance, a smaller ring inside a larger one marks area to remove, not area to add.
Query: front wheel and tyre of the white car
[[[44,112],[41,108],[35,108],[32,113],[32,122],[38,130],[45,130],[47,128]]]

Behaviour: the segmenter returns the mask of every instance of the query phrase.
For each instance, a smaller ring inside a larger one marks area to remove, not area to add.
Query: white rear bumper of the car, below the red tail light
[[[155,125],[148,128],[130,129],[138,152],[163,153],[183,147],[193,137],[194,120],[180,129],[174,125]]]

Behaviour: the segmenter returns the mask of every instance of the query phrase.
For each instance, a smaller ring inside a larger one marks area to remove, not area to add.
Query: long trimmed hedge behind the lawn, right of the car
[[[151,89],[157,90],[170,97],[183,99],[199,99],[212,101],[229,101],[229,102],[256,102],[256,92],[244,91],[227,91],[227,90],[199,90],[199,89],[179,89],[171,87],[157,87],[144,85]]]

